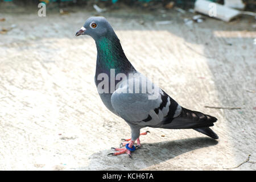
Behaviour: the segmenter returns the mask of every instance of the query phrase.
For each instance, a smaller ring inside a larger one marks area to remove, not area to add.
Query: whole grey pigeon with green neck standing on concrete
[[[138,72],[123,52],[112,26],[102,16],[88,18],[76,36],[89,35],[96,42],[97,63],[94,77],[104,105],[124,119],[131,129],[131,138],[123,139],[120,148],[109,155],[120,155],[141,148],[140,133],[144,127],[193,129],[213,139],[218,135],[209,127],[217,118],[180,106],[163,89]],[[137,142],[137,146],[134,146]]]

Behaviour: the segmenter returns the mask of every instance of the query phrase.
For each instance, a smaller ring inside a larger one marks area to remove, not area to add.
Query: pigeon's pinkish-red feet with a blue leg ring
[[[144,133],[141,133],[140,135],[147,135],[147,133],[150,133],[150,132],[146,131]],[[141,148],[141,140],[139,140],[139,138],[137,138],[137,146],[134,146],[134,142],[135,142],[134,140],[122,139],[122,141],[125,141],[125,142],[122,142],[120,144],[120,148],[114,148],[114,147],[111,148],[112,150],[117,152],[110,153],[108,155],[121,155],[121,154],[127,153],[128,156],[131,158],[131,152],[135,151],[137,148]],[[125,147],[125,148],[121,148],[121,147]]]

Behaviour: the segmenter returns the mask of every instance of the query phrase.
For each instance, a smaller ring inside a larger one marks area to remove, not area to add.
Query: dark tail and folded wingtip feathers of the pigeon
[[[209,127],[217,121],[217,118],[199,111],[192,111],[181,107],[181,113],[172,121],[163,123],[161,127],[166,129],[194,129],[214,139],[218,139],[218,135],[214,133]]]

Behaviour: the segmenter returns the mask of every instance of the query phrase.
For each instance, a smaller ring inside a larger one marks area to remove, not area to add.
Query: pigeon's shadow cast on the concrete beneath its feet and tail
[[[141,149],[133,152],[132,158],[128,158],[126,154],[107,156],[112,151],[104,150],[96,152],[89,157],[89,166],[73,169],[139,170],[175,158],[185,152],[214,146],[217,143],[217,140],[204,137],[180,139],[170,142],[145,143]]]

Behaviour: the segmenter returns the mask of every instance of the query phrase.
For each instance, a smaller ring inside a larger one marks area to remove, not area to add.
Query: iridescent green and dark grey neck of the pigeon
[[[130,69],[134,69],[129,60],[127,60],[116,36],[100,38],[96,41],[96,46],[97,67],[100,67],[102,71],[108,72],[110,69],[115,69],[116,72],[125,73],[126,71],[130,72]]]

